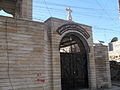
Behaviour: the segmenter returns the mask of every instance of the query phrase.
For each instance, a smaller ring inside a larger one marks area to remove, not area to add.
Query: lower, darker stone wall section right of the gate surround
[[[96,65],[97,88],[110,88],[111,77],[108,59],[108,47],[102,44],[95,44],[94,58]]]

